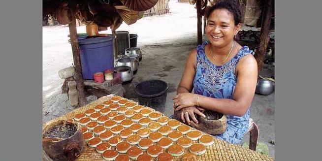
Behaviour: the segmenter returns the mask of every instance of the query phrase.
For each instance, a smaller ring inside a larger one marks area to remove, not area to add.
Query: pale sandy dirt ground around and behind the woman
[[[171,97],[175,95],[186,58],[195,48],[197,39],[196,10],[188,3],[169,1],[170,12],[165,15],[144,17],[135,24],[128,26],[123,23],[118,31],[137,33],[137,46],[141,47],[143,59],[138,72],[131,83],[123,85],[126,90],[124,97],[137,100],[134,94],[135,84],[146,79],[160,79],[168,83],[165,115],[173,113]],[[77,27],[77,32],[85,32],[85,26]],[[100,33],[111,33],[110,30]],[[74,109],[70,106],[66,94],[61,94],[64,80],[58,76],[58,71],[72,65],[71,46],[68,43],[68,27],[43,27],[43,123],[64,115]],[[203,38],[204,40],[205,37]],[[274,75],[274,66],[266,65],[262,75]],[[88,97],[88,102],[97,99]],[[269,147],[269,156],[275,156],[275,145],[269,143],[275,140],[274,132],[274,93],[269,96],[255,95],[251,107],[251,117],[258,124],[259,139]],[[246,135],[242,142],[247,142]]]

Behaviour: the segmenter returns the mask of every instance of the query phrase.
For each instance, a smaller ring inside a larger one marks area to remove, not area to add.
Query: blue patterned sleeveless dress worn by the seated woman
[[[203,42],[197,46],[196,74],[193,80],[194,94],[212,97],[212,98],[228,98],[232,99],[237,76],[235,73],[236,65],[239,60],[248,54],[255,53],[247,46],[243,46],[236,56],[223,65],[215,65],[211,63],[205,55],[205,45]],[[250,118],[250,108],[242,117],[234,115],[226,115],[227,130],[223,134],[215,135],[215,137],[238,144],[244,134],[248,130],[248,122]]]

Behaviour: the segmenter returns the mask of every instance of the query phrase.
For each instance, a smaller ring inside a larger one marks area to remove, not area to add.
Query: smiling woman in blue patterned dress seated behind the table
[[[252,50],[234,40],[241,27],[238,3],[231,0],[216,3],[207,18],[208,42],[190,53],[177,95],[173,97],[174,108],[175,112],[180,111],[182,122],[196,129],[199,126],[195,114],[205,117],[204,110],[225,114],[227,129],[215,136],[238,144],[248,129],[257,62]]]

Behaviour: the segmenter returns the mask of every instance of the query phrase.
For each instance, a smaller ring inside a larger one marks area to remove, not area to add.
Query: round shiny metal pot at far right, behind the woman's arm
[[[255,93],[259,95],[270,95],[274,92],[275,80],[259,76]]]

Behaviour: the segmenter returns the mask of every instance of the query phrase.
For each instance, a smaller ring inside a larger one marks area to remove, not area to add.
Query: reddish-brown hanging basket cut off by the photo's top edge
[[[134,11],[145,11],[152,8],[158,0],[121,0],[129,9]]]

